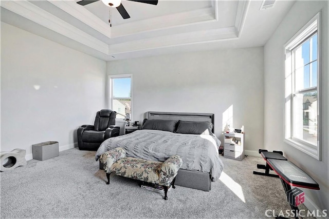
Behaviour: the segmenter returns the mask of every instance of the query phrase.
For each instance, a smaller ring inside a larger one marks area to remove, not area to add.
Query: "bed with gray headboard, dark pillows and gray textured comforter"
[[[181,156],[176,185],[209,191],[222,173],[223,162],[218,156],[221,142],[214,133],[214,114],[147,112],[142,130],[108,138],[96,152],[99,156],[122,147],[127,156],[151,161],[165,161]]]

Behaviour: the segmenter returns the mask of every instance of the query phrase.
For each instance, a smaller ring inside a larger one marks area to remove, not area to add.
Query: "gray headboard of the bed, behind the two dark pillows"
[[[189,113],[189,112],[154,112],[145,113],[148,120],[181,120],[191,122],[210,122],[213,124],[212,133],[215,133],[213,113]]]

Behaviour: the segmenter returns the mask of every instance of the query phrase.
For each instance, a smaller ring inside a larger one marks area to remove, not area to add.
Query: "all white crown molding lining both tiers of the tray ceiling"
[[[110,57],[136,51],[150,52],[161,48],[239,38],[250,0],[239,1],[234,26],[225,28],[216,28],[215,23],[214,26],[210,25],[211,22],[218,20],[217,1],[213,1],[211,7],[208,8],[145,19],[131,24],[118,25],[112,29],[109,29],[109,26],[100,18],[76,4],[75,1],[48,2],[76,17],[93,30],[103,34],[107,39],[103,38],[102,41],[91,36],[28,1],[2,1],[1,7],[83,44],[87,46],[86,49],[92,48]],[[205,26],[213,28],[208,29]],[[194,28],[192,32],[190,32],[191,27]],[[119,36],[123,37],[120,38]],[[106,40],[107,43],[105,43]]]

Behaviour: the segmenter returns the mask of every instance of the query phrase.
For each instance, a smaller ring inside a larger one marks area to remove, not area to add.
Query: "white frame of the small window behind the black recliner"
[[[113,79],[118,79],[118,78],[130,78],[130,102],[131,102],[131,121],[133,120],[133,75],[132,74],[113,74],[113,75],[108,75],[108,86],[107,86],[107,93],[108,93],[108,108],[113,109],[113,100],[114,99],[120,99],[120,98],[128,98],[126,96],[121,96],[121,97],[113,97]],[[116,118],[116,121],[125,121],[124,118]]]

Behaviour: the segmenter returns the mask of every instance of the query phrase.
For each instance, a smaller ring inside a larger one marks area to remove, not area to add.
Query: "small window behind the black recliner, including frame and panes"
[[[132,76],[109,75],[109,107],[117,112],[116,118],[132,114]]]

